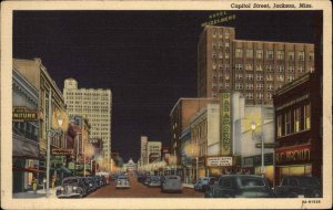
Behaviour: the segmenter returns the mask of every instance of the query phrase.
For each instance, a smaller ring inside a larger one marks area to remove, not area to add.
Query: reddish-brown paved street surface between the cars
[[[115,189],[115,183],[100,188],[90,193],[87,198],[203,198],[202,192],[196,192],[193,188],[183,188],[182,193],[161,192],[160,188],[149,188],[137,181],[137,178],[130,178],[130,189]]]

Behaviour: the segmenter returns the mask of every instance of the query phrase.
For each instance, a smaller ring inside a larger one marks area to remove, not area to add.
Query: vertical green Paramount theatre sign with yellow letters
[[[220,101],[220,154],[231,155],[231,93],[221,93]]]

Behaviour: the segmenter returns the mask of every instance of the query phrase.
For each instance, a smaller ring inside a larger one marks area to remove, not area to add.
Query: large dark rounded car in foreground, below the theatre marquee
[[[266,178],[254,175],[225,175],[204,195],[205,198],[274,198]]]

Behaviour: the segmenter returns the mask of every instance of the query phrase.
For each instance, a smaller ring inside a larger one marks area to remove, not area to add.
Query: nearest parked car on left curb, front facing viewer
[[[67,177],[63,178],[60,189],[56,195],[58,198],[79,197],[88,195],[89,188],[83,177]]]

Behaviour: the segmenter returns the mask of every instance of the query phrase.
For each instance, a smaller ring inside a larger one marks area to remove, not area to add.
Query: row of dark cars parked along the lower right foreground
[[[321,198],[322,183],[315,177],[287,176],[272,189],[266,178],[254,175],[225,175],[202,178],[194,190],[204,190],[205,198]]]

